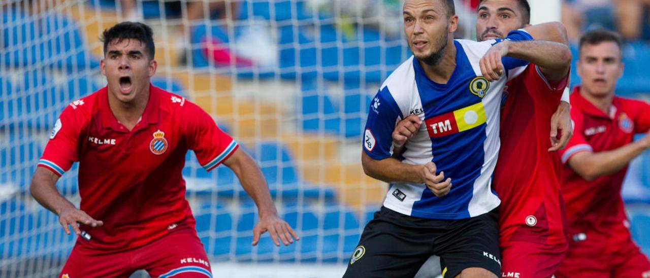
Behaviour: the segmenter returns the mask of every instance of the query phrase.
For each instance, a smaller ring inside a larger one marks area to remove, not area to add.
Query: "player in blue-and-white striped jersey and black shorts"
[[[441,257],[445,277],[501,275],[500,201],[491,190],[501,93],[525,70],[526,62],[512,57],[543,62],[547,53],[525,49],[552,44],[517,41],[562,31],[556,23],[535,25],[473,42],[452,39],[457,23],[453,1],[404,3],[413,57],[374,97],[363,138],[364,170],[391,188],[344,277],[413,276],[430,255]],[[424,124],[400,161],[391,157],[391,133],[409,114]]]

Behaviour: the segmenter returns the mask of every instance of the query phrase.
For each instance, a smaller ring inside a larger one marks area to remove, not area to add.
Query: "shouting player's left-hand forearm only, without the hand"
[[[29,185],[29,192],[40,205],[59,215],[63,208],[75,206],[61,196],[57,190],[57,180],[58,176],[54,173],[45,168],[36,167]]]

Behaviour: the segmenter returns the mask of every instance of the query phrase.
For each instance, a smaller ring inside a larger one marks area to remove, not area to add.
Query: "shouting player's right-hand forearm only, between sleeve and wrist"
[[[278,214],[273,199],[271,198],[271,194],[268,191],[264,175],[257,164],[255,164],[253,158],[247,155],[244,151],[237,149],[237,151],[235,151],[235,153],[233,153],[233,155],[226,161],[226,166],[233,170],[235,175],[237,175],[237,178],[239,178],[242,188],[244,188],[248,196],[255,201],[260,218],[263,218],[266,215]]]

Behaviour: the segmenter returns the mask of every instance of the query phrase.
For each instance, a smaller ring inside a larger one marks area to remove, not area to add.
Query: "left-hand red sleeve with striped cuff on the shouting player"
[[[70,170],[72,164],[79,160],[79,136],[83,123],[83,113],[68,105],[49,134],[38,167],[47,168],[59,177]]]

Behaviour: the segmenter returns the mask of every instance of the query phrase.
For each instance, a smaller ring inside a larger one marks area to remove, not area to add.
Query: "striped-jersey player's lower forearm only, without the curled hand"
[[[375,160],[365,152],[361,155],[361,164],[366,175],[386,183],[424,183],[422,165],[404,164],[392,157]]]

